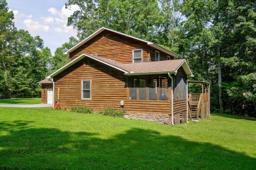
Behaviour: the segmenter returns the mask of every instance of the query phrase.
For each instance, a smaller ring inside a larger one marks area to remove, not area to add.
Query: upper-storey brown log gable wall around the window
[[[70,54],[70,61],[83,53],[96,54],[114,59],[120,63],[133,62],[133,50],[142,49],[142,60],[149,61],[149,48],[146,42],[137,41],[110,31],[102,31]]]

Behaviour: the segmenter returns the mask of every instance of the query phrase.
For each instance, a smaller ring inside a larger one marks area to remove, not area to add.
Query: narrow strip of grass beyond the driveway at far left
[[[40,103],[41,98],[0,99],[0,105],[32,105]]]

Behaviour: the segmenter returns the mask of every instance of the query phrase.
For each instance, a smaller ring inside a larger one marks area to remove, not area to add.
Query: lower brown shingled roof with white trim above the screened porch
[[[150,61],[142,63],[119,63],[113,59],[102,58],[100,56],[93,56],[90,54],[81,54],[81,56],[70,61],[53,74],[49,75],[47,78],[53,78],[53,76],[58,75],[68,67],[77,63],[83,58],[91,58],[100,63],[113,67],[119,71],[122,71],[125,75],[159,75],[167,73],[177,73],[178,69],[182,67],[188,76],[193,76],[192,71],[188,67],[185,59],[171,59],[165,61]]]

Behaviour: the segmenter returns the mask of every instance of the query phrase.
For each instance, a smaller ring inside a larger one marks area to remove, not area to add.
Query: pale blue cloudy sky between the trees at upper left
[[[76,37],[77,31],[67,27],[68,16],[79,8],[65,9],[68,0],[7,0],[9,10],[14,12],[17,29],[25,29],[43,39],[44,46],[54,54],[56,48]]]

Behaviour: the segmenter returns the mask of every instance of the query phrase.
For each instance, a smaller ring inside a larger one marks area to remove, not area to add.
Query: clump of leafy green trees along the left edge
[[[0,1],[0,98],[39,96],[37,82],[51,68],[51,52],[39,36],[17,30],[7,2]]]

